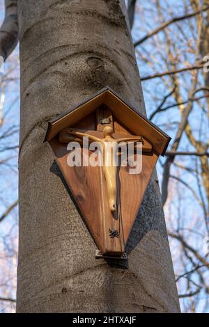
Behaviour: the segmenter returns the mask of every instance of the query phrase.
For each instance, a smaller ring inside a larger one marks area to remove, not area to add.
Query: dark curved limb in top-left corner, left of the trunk
[[[17,0],[5,0],[5,18],[0,28],[0,58],[5,61],[18,42]]]

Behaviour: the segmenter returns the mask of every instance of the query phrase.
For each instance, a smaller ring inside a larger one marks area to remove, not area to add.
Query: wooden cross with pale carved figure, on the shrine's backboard
[[[89,143],[96,142],[102,154],[101,169],[107,186],[107,199],[110,211],[110,214],[106,214],[106,216],[111,216],[110,219],[106,219],[109,221],[109,225],[107,225],[107,228],[104,228],[104,241],[106,241],[106,243],[111,243],[110,247],[113,253],[116,252],[116,248],[120,249],[118,253],[123,253],[123,223],[120,214],[120,197],[118,194],[118,174],[116,165],[116,155],[119,154],[117,151],[118,143],[141,142],[144,152],[150,152],[152,146],[145,141],[142,136],[116,134],[111,126],[105,126],[103,131],[87,131],[70,127],[65,128],[59,132],[59,141],[61,143],[78,141],[82,144],[82,138],[84,136],[88,137]],[[107,221],[105,222],[106,224]]]

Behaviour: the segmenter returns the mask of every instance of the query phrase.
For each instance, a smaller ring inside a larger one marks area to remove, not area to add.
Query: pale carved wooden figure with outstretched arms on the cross
[[[102,170],[107,183],[107,196],[109,201],[109,209],[114,212],[117,209],[117,166],[116,166],[116,152],[118,150],[118,143],[141,141],[141,136],[127,137],[127,138],[114,138],[113,129],[110,126],[106,126],[103,129],[103,137],[98,138],[91,134],[76,131],[74,129],[63,129],[59,134],[59,141],[68,143],[72,141],[70,135],[77,136],[77,138],[83,138],[88,136],[91,141],[97,142],[100,145],[100,150],[103,157]],[[69,135],[70,134],[70,135]]]

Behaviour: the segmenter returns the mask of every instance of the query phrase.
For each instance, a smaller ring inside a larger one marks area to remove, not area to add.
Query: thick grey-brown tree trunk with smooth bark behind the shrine
[[[179,312],[155,176],[127,245],[128,264],[95,260],[93,239],[42,143],[47,120],[106,85],[145,113],[123,1],[18,0],[18,17],[17,312]]]

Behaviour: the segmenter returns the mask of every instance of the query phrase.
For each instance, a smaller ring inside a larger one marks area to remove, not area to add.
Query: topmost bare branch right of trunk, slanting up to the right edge
[[[167,22],[164,22],[162,25],[158,26],[156,29],[154,29],[153,31],[151,31],[150,33],[146,34],[143,38],[141,38],[139,41],[134,43],[134,47],[137,47],[138,45],[141,45],[142,42],[146,41],[148,38],[150,38],[151,36],[159,33],[160,31],[162,31],[163,29],[165,29],[167,26],[175,23],[175,22],[179,22],[180,20],[183,19],[188,19],[191,17],[194,17],[195,15],[198,15],[199,13],[206,11],[209,9],[209,6],[206,7],[202,7],[196,11],[194,11],[193,13],[189,13],[187,15],[182,15],[182,16],[178,16],[178,17],[173,17],[171,19],[169,19]]]

